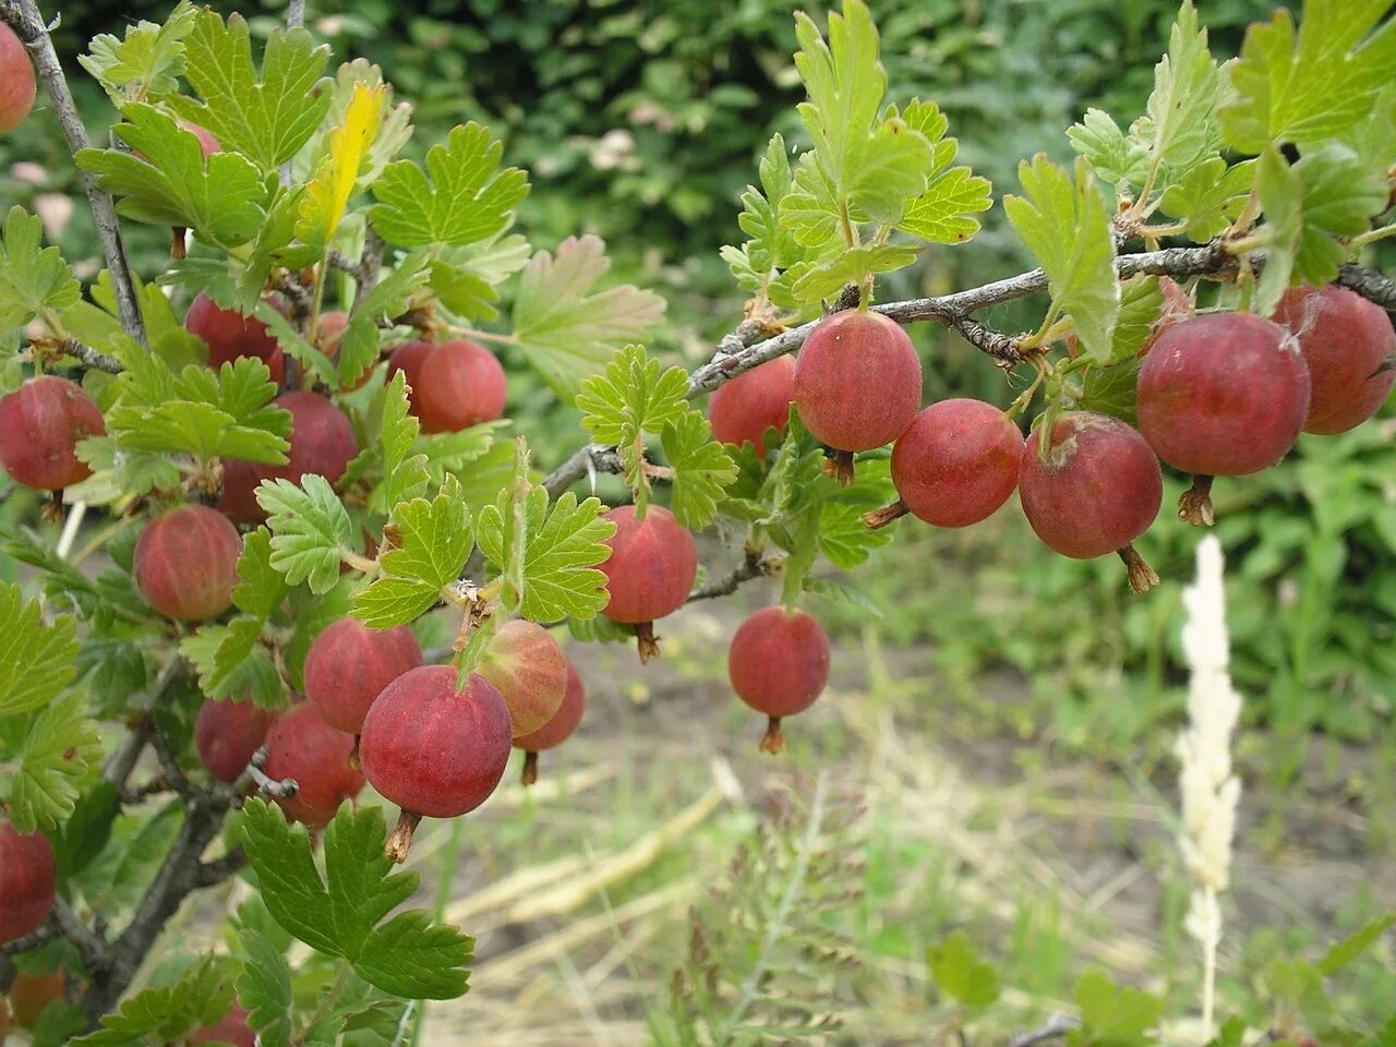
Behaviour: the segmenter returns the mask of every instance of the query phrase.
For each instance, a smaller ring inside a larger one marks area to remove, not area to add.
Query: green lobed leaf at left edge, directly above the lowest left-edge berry
[[[82,694],[68,691],[43,708],[15,758],[6,800],[10,821],[20,832],[53,829],[78,799],[78,783],[102,758],[96,723],[84,718]]]

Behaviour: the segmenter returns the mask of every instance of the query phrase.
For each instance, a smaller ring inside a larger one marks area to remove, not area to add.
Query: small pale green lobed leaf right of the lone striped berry
[[[262,480],[257,504],[268,512],[271,565],[288,585],[309,582],[327,592],[339,579],[339,563],[353,540],[353,524],[329,482],[317,473],[290,480]]]

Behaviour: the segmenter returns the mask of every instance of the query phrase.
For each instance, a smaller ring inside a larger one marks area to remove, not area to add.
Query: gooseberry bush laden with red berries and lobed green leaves
[[[415,1001],[466,991],[472,941],[395,912],[417,878],[394,866],[423,818],[519,787],[512,750],[528,785],[585,730],[560,630],[632,642],[644,671],[684,603],[776,578],[729,652],[775,754],[829,678],[819,602],[860,600],[828,568],[898,526],[973,526],[1016,490],[1047,550],[1156,585],[1135,543],[1182,526],[1157,522],[1161,468],[1210,524],[1213,477],[1361,424],[1396,381],[1396,286],[1362,264],[1396,229],[1386,7],[1309,0],[1219,63],[1184,3],[1148,112],[1087,112],[1074,162],[1025,159],[1001,197],[1040,268],[906,302],[886,275],[973,237],[994,190],[934,101],[888,102],[861,0],[797,15],[804,138],[776,135],[741,197],[723,258],[745,311],[688,373],[600,240],[514,230],[529,177],[489,128],[403,159],[410,103],[306,28],[254,43],[186,0],[96,38],[89,142],[46,17],[0,0],[0,131],[35,119],[38,70],[105,254],[82,282],[39,218],[0,228],[0,465],[35,493],[3,550],[38,586],[0,585],[0,959],[21,967],[0,977],[56,986],[21,1015],[32,1040],[401,1043]],[[152,281],[131,223],[169,230]],[[1033,331],[974,317],[1027,296]],[[923,405],[914,322],[983,350],[1011,403]],[[565,461],[511,431],[500,353],[581,410]],[[424,645],[443,607],[454,642]],[[229,948],[156,965],[173,913],[229,877],[254,888]],[[997,995],[963,941],[933,969],[965,1005]],[[1078,1002],[1078,1041],[1159,1018],[1100,977]],[[694,1013],[670,1018],[709,1033],[676,1041],[729,1041]]]

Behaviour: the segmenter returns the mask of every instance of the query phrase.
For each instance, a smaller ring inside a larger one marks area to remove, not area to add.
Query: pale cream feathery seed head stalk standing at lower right
[[[1217,895],[1231,875],[1231,838],[1241,782],[1231,769],[1231,736],[1241,715],[1241,697],[1227,671],[1226,595],[1222,585],[1222,543],[1209,535],[1198,544],[1198,579],[1182,593],[1187,621],[1182,651],[1191,670],[1188,726],[1174,752],[1181,764],[1182,861],[1192,877],[1187,931],[1203,951],[1202,1037],[1212,1039],[1216,958],[1222,941]]]

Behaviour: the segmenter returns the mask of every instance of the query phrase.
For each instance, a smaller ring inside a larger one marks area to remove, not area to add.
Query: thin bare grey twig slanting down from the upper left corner
[[[34,0],[0,0],[0,21],[7,22],[15,31],[29,54],[34,56],[34,66],[49,92],[53,112],[57,113],[59,123],[63,126],[63,137],[68,142],[68,151],[77,155],[88,148],[87,128],[82,126],[82,117],[78,116],[77,105],[73,102],[68,81],[63,75],[63,64],[53,49],[49,27],[43,21],[43,15],[39,14],[38,6]],[[78,168],[78,180],[82,183],[88,204],[92,207],[92,221],[96,223],[96,235],[102,243],[107,272],[112,275],[112,290],[116,295],[116,310],[121,320],[121,329],[145,345],[145,321],[141,320],[135,286],[131,283],[131,271],[126,262],[126,244],[121,240],[116,205],[107,193],[98,188],[95,176],[82,168]]]

